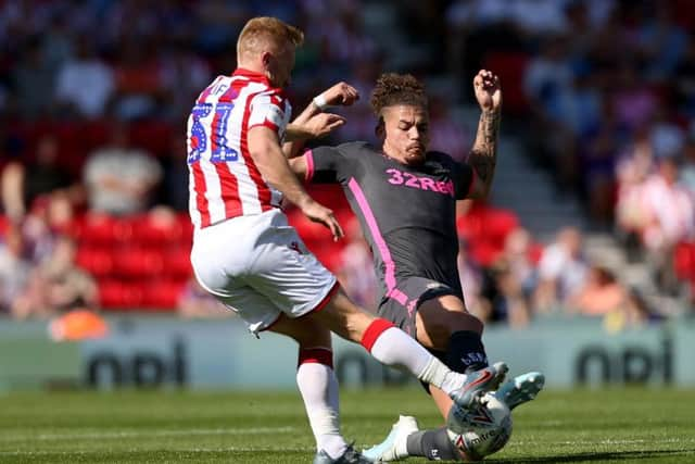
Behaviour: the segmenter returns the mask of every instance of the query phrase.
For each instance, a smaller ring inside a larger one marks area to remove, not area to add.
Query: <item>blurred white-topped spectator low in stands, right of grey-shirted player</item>
[[[584,285],[587,271],[581,231],[565,227],[541,254],[534,293],[536,311],[553,311],[569,301]]]

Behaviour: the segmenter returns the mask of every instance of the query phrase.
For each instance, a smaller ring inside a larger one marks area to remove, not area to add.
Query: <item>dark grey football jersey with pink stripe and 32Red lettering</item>
[[[433,151],[422,165],[406,166],[367,142],[319,147],[306,156],[313,183],[342,185],[371,248],[382,296],[408,277],[462,292],[456,200],[471,187],[470,166]]]

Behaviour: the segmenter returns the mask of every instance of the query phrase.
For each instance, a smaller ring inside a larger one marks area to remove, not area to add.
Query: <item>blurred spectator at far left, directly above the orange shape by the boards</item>
[[[51,256],[31,271],[26,288],[14,301],[15,317],[42,318],[97,306],[97,284],[75,264],[76,251],[77,244],[72,238],[58,239]]]

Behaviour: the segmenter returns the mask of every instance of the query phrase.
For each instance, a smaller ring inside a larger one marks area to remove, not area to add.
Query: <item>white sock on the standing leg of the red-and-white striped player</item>
[[[340,435],[338,379],[333,369],[326,364],[304,362],[296,369],[296,385],[317,450],[324,450],[331,459],[341,456],[348,443]]]

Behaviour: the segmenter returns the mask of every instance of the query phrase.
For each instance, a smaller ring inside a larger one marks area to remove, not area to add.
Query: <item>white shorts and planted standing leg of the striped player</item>
[[[316,462],[366,463],[339,431],[338,383],[332,371],[330,333],[311,322],[289,318],[281,312],[293,308],[295,301],[308,310],[320,305],[334,279],[320,281],[305,275],[303,267],[296,264],[301,260],[293,255],[289,256],[288,264],[288,255],[282,250],[289,250],[291,243],[286,246],[282,241],[261,239],[267,235],[273,221],[270,214],[265,214],[199,231],[191,253],[193,269],[201,285],[237,312],[251,331],[271,330],[299,343],[296,381],[316,438]],[[287,234],[276,236],[292,238]],[[260,243],[263,244],[260,247]],[[296,285],[292,285],[293,273],[299,279],[294,281]],[[303,291],[298,296],[292,291],[294,288]]]

